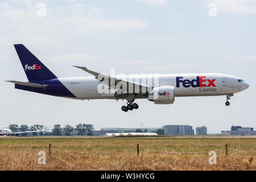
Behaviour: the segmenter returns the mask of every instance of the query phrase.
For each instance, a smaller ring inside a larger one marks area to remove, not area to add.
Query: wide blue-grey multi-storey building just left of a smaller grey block
[[[163,130],[165,135],[194,135],[194,130],[189,125],[165,125]]]

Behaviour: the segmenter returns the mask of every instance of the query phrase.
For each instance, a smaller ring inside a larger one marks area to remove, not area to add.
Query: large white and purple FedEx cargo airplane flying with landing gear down
[[[138,109],[135,99],[146,98],[154,104],[173,104],[175,97],[230,96],[249,87],[241,78],[221,73],[184,73],[163,75],[108,76],[78,67],[92,77],[56,77],[22,44],[14,45],[28,82],[9,81],[16,89],[77,100],[127,100],[123,111]]]

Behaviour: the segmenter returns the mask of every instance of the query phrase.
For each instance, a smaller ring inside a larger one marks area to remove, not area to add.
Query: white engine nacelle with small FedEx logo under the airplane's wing
[[[154,101],[154,104],[173,104],[174,86],[158,86],[148,92],[148,100]]]

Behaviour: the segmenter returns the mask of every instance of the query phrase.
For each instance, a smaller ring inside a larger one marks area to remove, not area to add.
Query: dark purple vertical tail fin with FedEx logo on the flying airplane
[[[36,58],[23,44],[14,45],[28,81],[51,80],[56,76]]]

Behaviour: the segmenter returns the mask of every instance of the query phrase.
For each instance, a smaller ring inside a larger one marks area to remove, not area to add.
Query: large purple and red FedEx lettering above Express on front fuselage
[[[182,85],[185,88],[188,88],[190,86],[192,86],[194,88],[195,87],[216,86],[214,84],[214,81],[216,79],[209,80],[209,79],[205,79],[205,78],[206,78],[206,76],[197,76],[196,79],[193,79],[193,80],[182,80],[183,76],[178,76],[178,77],[176,77],[176,87],[179,88],[180,83],[182,83]]]

